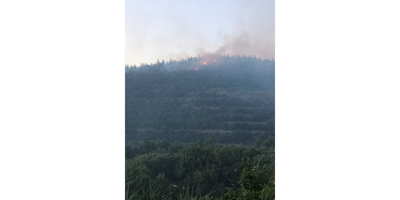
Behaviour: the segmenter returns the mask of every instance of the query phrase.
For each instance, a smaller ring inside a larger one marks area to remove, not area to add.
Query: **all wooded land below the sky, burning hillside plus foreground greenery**
[[[274,60],[125,71],[126,199],[274,199]]]

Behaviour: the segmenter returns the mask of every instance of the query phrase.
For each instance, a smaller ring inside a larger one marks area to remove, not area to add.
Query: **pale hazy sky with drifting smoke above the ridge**
[[[275,1],[125,1],[125,63],[275,57]]]

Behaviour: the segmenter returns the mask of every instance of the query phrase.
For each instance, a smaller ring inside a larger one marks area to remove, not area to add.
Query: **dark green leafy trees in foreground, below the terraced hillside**
[[[207,139],[185,147],[143,140],[126,149],[135,155],[125,161],[130,195],[150,195],[146,191],[152,188],[178,199],[179,188],[193,187],[199,194],[213,192],[214,199],[274,197],[274,147],[226,146]]]

